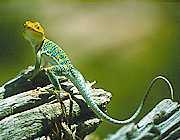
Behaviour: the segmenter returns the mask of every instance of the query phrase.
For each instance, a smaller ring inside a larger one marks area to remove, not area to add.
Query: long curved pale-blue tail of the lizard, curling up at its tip
[[[127,120],[116,120],[116,119],[113,119],[111,117],[109,117],[108,115],[106,115],[104,112],[102,112],[99,107],[91,100],[91,98],[89,97],[88,95],[88,91],[86,89],[86,84],[85,84],[85,80],[84,80],[84,77],[81,75],[81,73],[79,71],[77,71],[75,68],[71,68],[72,69],[72,75],[68,75],[67,77],[74,83],[74,85],[78,88],[80,94],[84,97],[84,99],[86,100],[87,104],[90,106],[90,108],[94,111],[94,113],[96,113],[96,115],[98,117],[100,117],[101,119],[109,122],[109,123],[112,123],[112,124],[116,124],[116,125],[125,125],[125,124],[128,124],[130,122],[132,122],[137,116],[138,114],[140,113],[146,99],[147,99],[147,96],[153,86],[153,84],[158,80],[158,79],[162,79],[164,80],[169,88],[170,88],[170,92],[171,92],[171,96],[172,96],[172,99],[173,99],[173,88],[170,84],[170,82],[165,78],[165,77],[162,77],[162,76],[158,76],[156,78],[153,79],[153,81],[151,82],[146,94],[145,94],[145,97],[143,98],[139,108],[136,110],[136,112],[134,113],[133,116],[131,116],[129,119]]]

